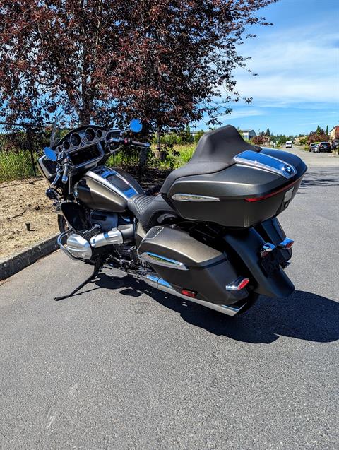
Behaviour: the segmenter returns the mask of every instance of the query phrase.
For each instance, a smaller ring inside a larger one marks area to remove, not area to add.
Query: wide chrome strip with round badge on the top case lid
[[[251,167],[258,167],[258,169],[268,170],[285,178],[294,177],[297,173],[295,167],[283,160],[279,160],[274,156],[263,153],[254,152],[252,150],[245,150],[239,155],[234,156],[234,161],[240,164],[249,165]]]

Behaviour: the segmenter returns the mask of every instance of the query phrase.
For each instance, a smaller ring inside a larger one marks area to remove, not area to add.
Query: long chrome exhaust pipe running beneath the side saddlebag
[[[167,283],[166,280],[156,275],[146,275],[146,276],[138,275],[137,278],[145,281],[145,283],[147,283],[148,285],[152,286],[155,289],[162,290],[163,292],[175,295],[176,297],[180,297],[184,300],[189,300],[189,302],[201,304],[201,306],[203,307],[214,309],[215,311],[221,312],[222,314],[226,314],[227,316],[232,317],[235,316],[246,305],[246,302],[237,305],[215,304],[211,302],[205,302],[205,300],[199,300],[194,297],[187,297],[186,295],[181,294],[180,292],[174,290],[172,286],[169,283]]]

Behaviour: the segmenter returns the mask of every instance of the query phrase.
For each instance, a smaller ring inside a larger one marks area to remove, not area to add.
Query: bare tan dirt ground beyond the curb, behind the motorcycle
[[[138,179],[134,167],[126,170]],[[161,183],[168,173],[150,169],[139,182],[148,189]],[[47,188],[46,180],[36,178],[0,183],[0,259],[59,232],[57,213],[44,194]],[[31,231],[26,222],[30,222]]]

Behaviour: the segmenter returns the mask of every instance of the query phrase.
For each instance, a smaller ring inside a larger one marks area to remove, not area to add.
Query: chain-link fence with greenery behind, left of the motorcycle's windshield
[[[50,126],[0,122],[0,182],[39,176],[37,158],[50,133]]]

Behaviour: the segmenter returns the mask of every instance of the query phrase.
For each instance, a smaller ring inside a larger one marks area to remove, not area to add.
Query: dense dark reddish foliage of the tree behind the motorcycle
[[[215,124],[220,86],[227,112],[241,98],[239,44],[272,1],[0,0],[2,114],[50,121],[62,105],[81,124]]]

